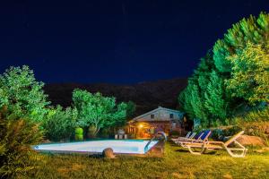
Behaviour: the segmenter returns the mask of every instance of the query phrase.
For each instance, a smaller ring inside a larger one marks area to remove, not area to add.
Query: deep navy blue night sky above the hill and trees
[[[187,77],[268,0],[65,0],[0,3],[0,73],[28,64],[39,81],[117,84]]]

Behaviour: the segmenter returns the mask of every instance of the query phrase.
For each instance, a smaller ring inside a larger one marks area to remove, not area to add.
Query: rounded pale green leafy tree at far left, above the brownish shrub
[[[36,81],[28,66],[10,67],[0,75],[0,107],[7,107],[9,118],[22,117],[41,122],[49,102],[42,90],[44,83]]]

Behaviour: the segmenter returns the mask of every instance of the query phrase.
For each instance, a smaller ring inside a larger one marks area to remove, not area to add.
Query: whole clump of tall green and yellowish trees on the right
[[[234,24],[217,40],[178,97],[191,119],[203,127],[230,124],[250,105],[268,104],[268,37],[269,14],[260,13]]]

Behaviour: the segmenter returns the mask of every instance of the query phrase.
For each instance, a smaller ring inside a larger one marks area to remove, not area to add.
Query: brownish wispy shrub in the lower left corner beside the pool
[[[39,126],[23,119],[7,120],[0,114],[0,175],[13,178],[27,175],[39,167],[43,159],[32,151],[39,143],[42,132]],[[43,161],[44,162],[44,161]]]

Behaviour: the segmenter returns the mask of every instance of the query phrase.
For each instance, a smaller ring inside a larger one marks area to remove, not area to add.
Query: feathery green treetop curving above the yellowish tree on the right
[[[230,55],[238,53],[240,48],[244,48],[247,42],[253,44],[268,44],[269,40],[269,15],[260,13],[256,19],[250,16],[234,24],[223,39],[219,39],[213,47],[213,60],[216,68],[220,72],[230,72],[231,64],[228,60]]]

